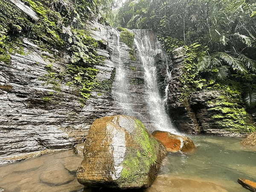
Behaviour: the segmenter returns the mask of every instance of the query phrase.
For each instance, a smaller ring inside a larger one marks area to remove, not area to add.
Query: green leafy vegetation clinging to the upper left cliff
[[[46,66],[47,78],[63,81],[71,77],[67,85],[79,87],[80,95],[88,99],[90,92],[99,87],[98,70],[93,66],[102,64],[104,57],[96,52],[101,42],[90,37],[84,23],[99,14],[99,7],[107,10],[114,1],[22,0],[20,3],[34,11],[39,20],[15,3],[0,0],[0,61],[11,64],[12,54],[24,54],[23,38],[29,38],[43,51],[54,53],[56,59],[63,55],[70,58],[65,72],[52,72],[52,67]]]

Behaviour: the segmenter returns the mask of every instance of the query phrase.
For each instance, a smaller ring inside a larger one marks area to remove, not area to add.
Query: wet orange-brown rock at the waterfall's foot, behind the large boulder
[[[154,131],[152,135],[160,140],[169,152],[193,152],[195,144],[189,137],[171,134],[167,131]]]

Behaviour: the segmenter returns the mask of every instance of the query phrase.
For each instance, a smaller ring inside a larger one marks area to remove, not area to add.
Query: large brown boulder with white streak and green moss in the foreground
[[[138,119],[124,115],[103,117],[90,127],[77,179],[85,186],[147,188],[165,156],[165,147]]]

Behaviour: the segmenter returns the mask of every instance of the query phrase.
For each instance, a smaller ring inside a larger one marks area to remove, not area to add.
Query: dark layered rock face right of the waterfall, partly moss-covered
[[[169,113],[177,127],[189,134],[215,134],[242,137],[255,130],[253,119],[241,102],[241,93],[233,87],[194,90],[185,97],[181,77],[186,76],[183,47],[172,52],[168,99]],[[192,85],[186,85],[189,86]]]

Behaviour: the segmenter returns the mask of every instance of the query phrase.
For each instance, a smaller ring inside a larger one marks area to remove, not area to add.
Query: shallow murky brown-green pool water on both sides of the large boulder
[[[147,192],[246,192],[236,180],[256,180],[256,149],[229,137],[192,137],[194,154],[168,154]],[[76,181],[82,158],[72,150],[0,166],[0,188],[9,192],[90,192]],[[100,190],[103,191],[103,190]]]

